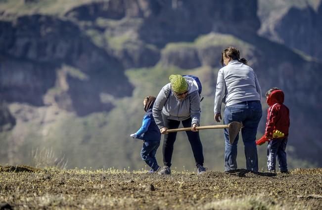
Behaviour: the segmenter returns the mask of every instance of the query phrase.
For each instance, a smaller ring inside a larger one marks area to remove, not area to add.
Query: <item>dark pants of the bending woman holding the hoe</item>
[[[166,116],[163,115],[163,122],[164,122],[164,126],[168,127],[169,129],[178,128],[180,125],[180,122],[182,122],[182,125],[184,127],[191,127],[191,118],[184,121],[175,121],[175,120],[169,120],[167,119]],[[203,166],[203,152],[202,152],[202,144],[200,141],[199,132],[192,132],[192,131],[185,131],[185,132],[188,136],[188,140],[191,145],[191,149],[193,152],[196,165]],[[177,132],[164,135],[163,147],[162,147],[164,166],[171,167],[173,145],[176,141],[176,137],[177,137]]]

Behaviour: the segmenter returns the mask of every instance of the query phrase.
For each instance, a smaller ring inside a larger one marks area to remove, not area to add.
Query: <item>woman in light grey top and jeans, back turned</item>
[[[221,63],[223,68],[218,72],[214,119],[222,120],[221,105],[226,104],[224,124],[233,121],[242,123],[242,140],[246,157],[246,168],[258,171],[256,148],[256,133],[262,117],[261,87],[252,68],[247,66],[245,58],[240,59],[239,50],[228,47],[222,52]],[[228,129],[225,136],[225,171],[237,169],[237,143],[238,135],[230,145]]]

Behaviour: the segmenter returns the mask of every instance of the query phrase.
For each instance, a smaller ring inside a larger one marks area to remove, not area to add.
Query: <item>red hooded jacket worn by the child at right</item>
[[[273,138],[273,131],[279,130],[288,136],[289,128],[289,110],[283,104],[284,93],[281,90],[274,90],[271,92],[266,102],[270,106],[267,109],[267,122],[265,128],[265,136],[269,139]]]

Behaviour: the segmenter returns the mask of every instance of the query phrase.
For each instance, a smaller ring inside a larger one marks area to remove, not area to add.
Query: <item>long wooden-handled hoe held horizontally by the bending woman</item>
[[[239,122],[231,122],[228,125],[218,125],[218,126],[199,126],[196,127],[197,130],[202,130],[202,129],[214,129],[214,128],[228,128],[228,134],[229,134],[229,141],[230,145],[233,143],[235,140],[236,136],[238,135],[239,130],[241,129],[242,124]],[[182,128],[177,128],[177,129],[168,129],[167,133],[171,132],[178,132],[178,131],[187,131],[191,130],[190,127],[182,127]]]

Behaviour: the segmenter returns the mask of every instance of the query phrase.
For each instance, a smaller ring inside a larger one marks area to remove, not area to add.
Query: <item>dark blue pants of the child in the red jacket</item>
[[[275,171],[276,156],[278,159],[278,167],[280,171],[287,171],[286,162],[286,144],[287,137],[283,139],[272,139],[267,145],[267,169]]]

